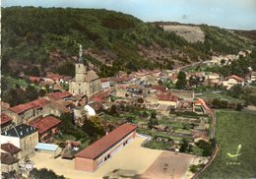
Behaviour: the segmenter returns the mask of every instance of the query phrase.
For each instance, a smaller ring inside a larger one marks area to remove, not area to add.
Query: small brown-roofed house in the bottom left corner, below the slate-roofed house
[[[19,159],[7,152],[1,152],[1,172],[9,173],[19,170]]]

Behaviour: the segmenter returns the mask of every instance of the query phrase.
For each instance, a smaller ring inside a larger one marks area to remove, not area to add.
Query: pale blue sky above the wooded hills
[[[2,0],[1,6],[103,8],[130,14],[145,22],[256,30],[256,0]]]

